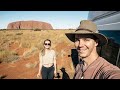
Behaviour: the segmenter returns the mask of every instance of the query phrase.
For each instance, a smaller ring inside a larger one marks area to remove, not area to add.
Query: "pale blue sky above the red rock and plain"
[[[0,11],[0,29],[15,21],[43,21],[53,29],[76,29],[81,20],[88,18],[89,11]]]

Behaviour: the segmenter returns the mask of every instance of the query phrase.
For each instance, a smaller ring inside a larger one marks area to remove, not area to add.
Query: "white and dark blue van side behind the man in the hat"
[[[120,11],[89,11],[88,20],[108,38],[108,44],[99,47],[100,56],[120,67]]]

